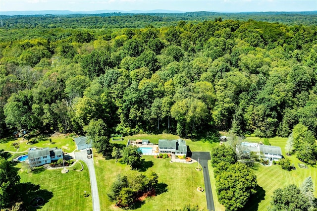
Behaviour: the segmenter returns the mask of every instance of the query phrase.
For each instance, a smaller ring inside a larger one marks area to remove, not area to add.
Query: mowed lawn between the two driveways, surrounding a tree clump
[[[136,211],[166,211],[167,209],[182,208],[185,204],[199,205],[201,209],[207,209],[205,192],[198,192],[199,186],[204,186],[202,171],[196,171],[195,164],[170,163],[170,159],[154,158],[154,156],[144,156],[147,163],[153,162],[149,167],[148,174],[153,171],[159,175],[159,183],[166,184],[166,192],[158,196],[148,198],[145,203]],[[105,160],[100,156],[95,157],[96,175],[99,189],[101,210],[121,210],[110,202],[107,193],[110,186],[120,173],[130,171],[130,166],[116,163],[115,160]]]

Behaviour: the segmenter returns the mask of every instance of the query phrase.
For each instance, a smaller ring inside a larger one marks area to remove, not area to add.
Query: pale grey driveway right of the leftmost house
[[[96,179],[96,172],[94,166],[94,158],[87,158],[87,151],[75,152],[75,158],[83,160],[89,170],[90,176],[90,185],[91,185],[91,197],[93,199],[93,211],[100,211],[100,202],[99,202],[99,194],[98,194],[98,186]]]

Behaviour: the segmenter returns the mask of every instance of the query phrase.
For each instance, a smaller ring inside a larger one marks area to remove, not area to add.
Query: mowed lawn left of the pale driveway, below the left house
[[[32,173],[27,172],[25,163],[19,163],[19,175],[21,182],[27,183],[28,188],[24,188],[25,202],[29,205],[35,196],[44,198],[45,204],[40,208],[43,211],[91,211],[92,198],[85,198],[84,191],[91,193],[90,179],[87,166],[84,164],[82,171],[79,163],[73,168],[68,167],[69,172],[61,173],[61,169],[45,170],[43,167]],[[39,185],[39,186],[37,186]],[[30,190],[34,188],[39,190]],[[28,210],[36,210],[28,207]],[[39,209],[37,209],[39,210]]]

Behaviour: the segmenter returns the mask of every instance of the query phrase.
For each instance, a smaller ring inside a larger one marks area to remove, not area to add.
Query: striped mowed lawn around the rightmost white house
[[[248,137],[247,141],[250,142],[264,142],[263,139],[258,137]],[[296,170],[283,170],[279,165],[272,166],[263,166],[256,165],[255,173],[258,178],[258,184],[265,191],[264,200],[259,203],[258,210],[264,211],[266,207],[269,205],[271,196],[273,195],[273,191],[277,188],[283,188],[289,184],[295,184],[296,186],[300,186],[302,182],[309,176],[313,178],[315,186],[317,186],[317,167],[308,166],[308,168],[300,168],[298,163],[302,163],[299,159],[296,158],[296,155],[286,156],[285,154],[285,144],[287,138],[270,138],[268,139],[269,143],[272,146],[279,146],[282,150],[282,154],[285,158],[289,158],[291,160],[291,164],[294,163]],[[315,189],[315,197],[317,197],[317,189]],[[254,210],[250,207],[250,211]]]

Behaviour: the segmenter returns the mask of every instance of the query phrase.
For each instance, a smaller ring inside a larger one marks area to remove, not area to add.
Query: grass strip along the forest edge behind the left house
[[[52,140],[52,143],[50,142],[50,138]],[[10,151],[10,152],[16,152],[21,153],[26,150],[28,150],[30,147],[57,147],[61,148],[64,152],[72,152],[76,149],[76,144],[73,141],[72,137],[68,137],[65,135],[55,135],[55,136],[37,136],[32,138],[33,143],[27,144],[27,140],[23,140],[22,138],[13,139],[13,138],[6,138],[6,139],[0,139],[0,149],[4,151]],[[19,149],[15,149],[12,146],[12,143],[19,143]]]

